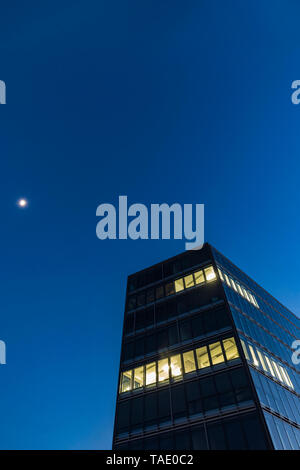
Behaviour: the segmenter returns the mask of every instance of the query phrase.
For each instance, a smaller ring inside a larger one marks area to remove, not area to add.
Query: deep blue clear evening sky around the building
[[[184,242],[100,241],[98,204],[204,203],[206,240],[299,312],[300,4],[0,15],[0,448],[107,449],[126,277]]]

